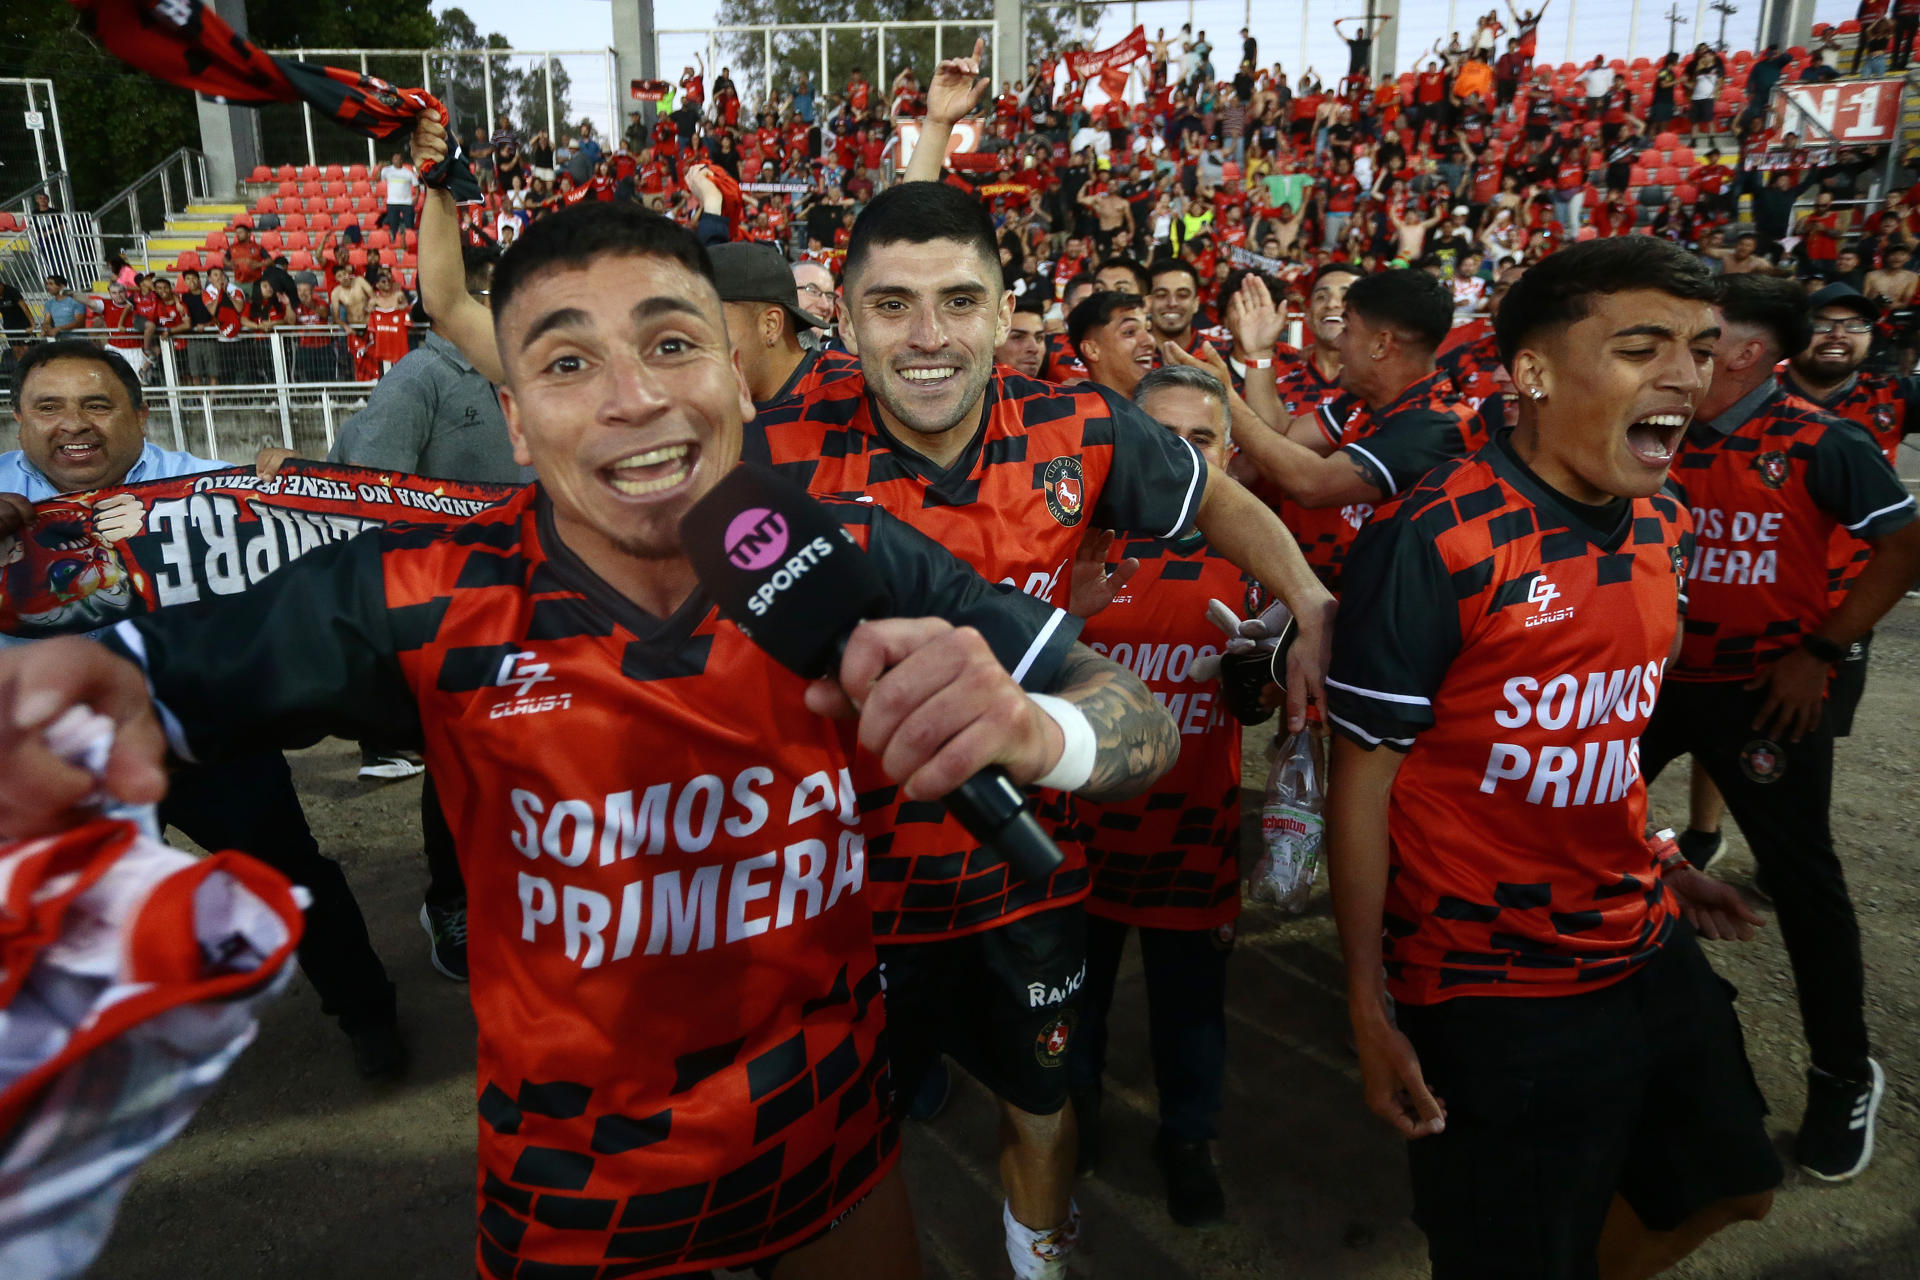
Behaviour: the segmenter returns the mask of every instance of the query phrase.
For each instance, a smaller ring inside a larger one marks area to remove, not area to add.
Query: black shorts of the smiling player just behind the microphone
[[[1031,1115],[1068,1100],[1068,1040],[1087,981],[1077,902],[939,942],[879,948],[895,1107],[941,1054]]]

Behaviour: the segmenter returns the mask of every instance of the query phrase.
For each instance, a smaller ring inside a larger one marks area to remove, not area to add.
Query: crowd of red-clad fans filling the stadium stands
[[[1350,65],[1338,79],[1261,65],[1246,31],[1223,75],[1206,31],[1160,31],[1096,104],[1092,84],[1068,75],[1068,52],[1048,54],[989,94],[977,142],[950,157],[948,180],[989,203],[1008,284],[1039,301],[1054,334],[1066,330],[1068,280],[1116,257],[1187,263],[1212,319],[1250,269],[1298,319],[1306,282],[1329,261],[1419,265],[1452,284],[1457,319],[1471,320],[1503,267],[1572,240],[1644,232],[1718,271],[1862,292],[1872,276],[1889,336],[1908,365],[1920,355],[1905,322],[1907,246],[1920,234],[1910,171],[1889,165],[1885,148],[1776,136],[1768,117],[1784,81],[1834,79],[1843,65],[1903,69],[1899,15],[1862,6],[1851,48],[1822,27],[1811,50],[1724,56],[1699,44],[1555,67],[1534,61],[1542,13],[1509,6],[1509,27],[1488,12],[1465,38],[1453,33],[1379,83],[1367,65],[1384,19],[1342,19]],[[618,140],[589,121],[559,138],[507,115],[474,127],[467,152],[484,200],[463,211],[470,238],[505,248],[555,209],[634,200],[689,225],[716,211],[735,238],[837,273],[854,217],[906,167],[925,111],[916,71],[902,67],[885,88],[854,71],[837,90],[799,73],[749,107],[730,67],[708,83],[697,63],[678,86],[659,83],[653,125],[634,111]],[[38,317],[0,292],[10,359],[31,336],[86,328],[142,370],[171,340],[182,384],[259,384],[276,376],[261,340],[296,326],[305,332],[280,363],[288,380],[378,378],[426,322],[409,292],[415,171],[394,155],[374,173],[276,177],[276,194],[171,274],[115,259],[90,297],[48,280]],[[303,207],[344,213],[309,219]]]

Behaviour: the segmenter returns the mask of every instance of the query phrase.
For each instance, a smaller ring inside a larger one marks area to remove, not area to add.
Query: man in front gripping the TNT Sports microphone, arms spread
[[[1119,798],[1165,770],[1175,727],[1068,614],[868,505],[837,520],[897,616],[851,633],[837,683],[716,612],[680,520],[733,470],[753,405],[689,232],[614,203],[555,213],[501,259],[492,305],[538,482],[123,626],[109,643],[134,662],[0,652],[0,837],[58,825],[90,785],[38,745],[77,700],[129,752],[159,741],[146,689],[180,758],[417,743],[468,887],[478,1274],[918,1274],[854,758],[914,802],[991,764]],[[829,718],[849,699],[856,725]],[[152,798],[152,754],[123,752],[109,785]]]

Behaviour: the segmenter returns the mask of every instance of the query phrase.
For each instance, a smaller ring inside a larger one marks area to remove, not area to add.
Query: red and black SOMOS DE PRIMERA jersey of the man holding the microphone
[[[1052,610],[839,514],[902,614],[1058,666]],[[645,614],[534,487],[121,635],[198,754],[424,747],[468,894],[480,1274],[766,1257],[895,1159],[851,725],[703,595]]]

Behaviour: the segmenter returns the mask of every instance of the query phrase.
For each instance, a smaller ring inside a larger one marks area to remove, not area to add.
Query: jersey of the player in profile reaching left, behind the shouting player
[[[1440,462],[1486,443],[1484,422],[1438,368],[1380,409],[1342,397],[1321,405],[1315,418],[1336,441],[1336,453],[1350,455],[1367,484],[1388,495],[1409,489]],[[1346,551],[1373,510],[1371,503],[1306,509],[1288,501],[1281,520],[1319,580],[1338,595]]]

